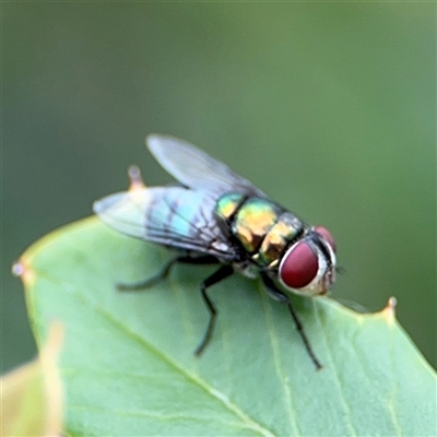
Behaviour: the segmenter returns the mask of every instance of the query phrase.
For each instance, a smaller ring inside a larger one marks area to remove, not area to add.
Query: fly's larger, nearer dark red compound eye
[[[291,288],[308,285],[319,271],[317,255],[308,243],[300,241],[285,253],[280,265],[280,279]]]

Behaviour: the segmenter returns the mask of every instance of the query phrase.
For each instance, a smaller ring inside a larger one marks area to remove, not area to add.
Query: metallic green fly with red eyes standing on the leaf
[[[153,134],[146,144],[157,162],[179,182],[146,188],[137,167],[130,169],[131,189],[94,203],[94,212],[114,229],[178,252],[154,276],[119,290],[140,290],[165,279],[176,263],[218,264],[200,284],[210,318],[196,349],[209,344],[217,309],[208,290],[238,272],[261,277],[267,292],[285,304],[305,347],[319,369],[299,317],[279,287],[306,296],[324,295],[335,280],[335,244],[322,226],[309,226],[247,179],[196,146]]]

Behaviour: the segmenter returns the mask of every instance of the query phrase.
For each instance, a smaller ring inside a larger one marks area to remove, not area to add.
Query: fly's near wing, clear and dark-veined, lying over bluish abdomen
[[[131,237],[232,261],[235,248],[214,216],[211,196],[182,187],[140,188],[94,203],[99,218]]]

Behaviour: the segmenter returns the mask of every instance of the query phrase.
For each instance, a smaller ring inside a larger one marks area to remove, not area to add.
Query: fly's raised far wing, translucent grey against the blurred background
[[[149,135],[146,143],[157,162],[192,190],[206,191],[216,197],[229,191],[265,197],[247,179],[192,144],[157,134]]]

